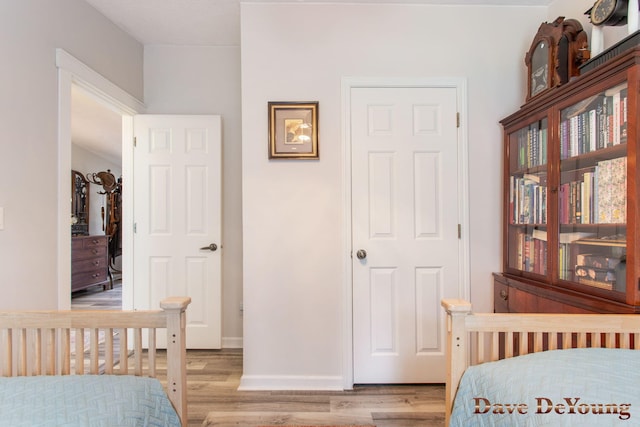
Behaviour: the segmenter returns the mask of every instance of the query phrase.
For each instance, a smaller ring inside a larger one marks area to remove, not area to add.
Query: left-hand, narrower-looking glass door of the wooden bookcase
[[[508,135],[507,268],[547,274],[547,118]]]

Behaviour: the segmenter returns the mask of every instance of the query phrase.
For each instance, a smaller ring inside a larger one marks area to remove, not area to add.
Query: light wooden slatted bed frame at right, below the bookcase
[[[445,299],[445,426],[462,374],[471,365],[567,348],[640,349],[640,315],[472,313],[471,303]]]

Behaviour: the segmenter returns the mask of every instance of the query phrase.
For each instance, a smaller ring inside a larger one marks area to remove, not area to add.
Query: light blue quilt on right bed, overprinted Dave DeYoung
[[[451,426],[638,426],[640,351],[568,349],[472,366]]]

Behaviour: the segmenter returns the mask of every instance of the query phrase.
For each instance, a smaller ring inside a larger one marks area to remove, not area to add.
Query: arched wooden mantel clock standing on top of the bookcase
[[[525,55],[527,101],[580,74],[579,66],[589,59],[587,34],[575,19],[558,17],[543,22]]]

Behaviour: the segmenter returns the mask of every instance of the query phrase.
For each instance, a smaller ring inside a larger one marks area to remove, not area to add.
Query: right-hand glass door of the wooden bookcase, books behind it
[[[558,279],[625,292],[626,83],[563,109],[559,137]]]

